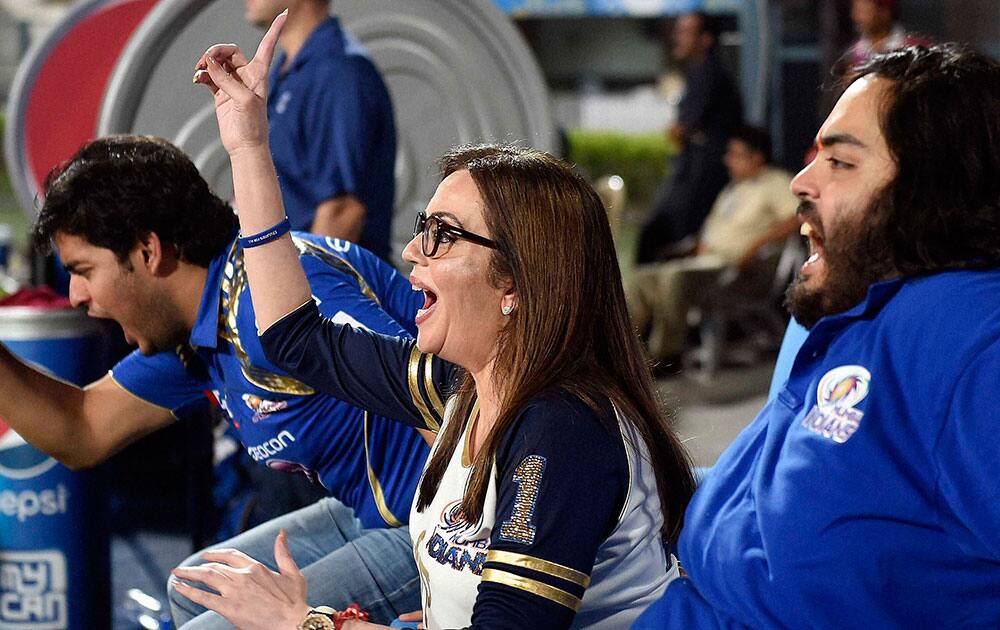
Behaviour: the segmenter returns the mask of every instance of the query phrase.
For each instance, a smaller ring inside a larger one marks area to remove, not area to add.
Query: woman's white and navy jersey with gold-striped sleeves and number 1
[[[469,523],[461,506],[478,406],[458,417],[456,366],[412,340],[338,326],[311,303],[261,342],[334,396],[419,428],[462,423],[431,503],[410,513],[427,627],[627,628],[677,576],[649,453],[610,401],[597,409],[561,391],[526,401],[501,439],[483,515]]]

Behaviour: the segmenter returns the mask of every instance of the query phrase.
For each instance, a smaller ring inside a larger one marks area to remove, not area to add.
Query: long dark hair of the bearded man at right
[[[1000,64],[955,44],[913,46],[854,69],[891,81],[882,134],[898,172],[885,191],[904,275],[1000,265]]]

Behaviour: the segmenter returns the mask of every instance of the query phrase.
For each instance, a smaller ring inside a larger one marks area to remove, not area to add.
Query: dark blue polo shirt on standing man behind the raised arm
[[[271,69],[271,156],[292,228],[308,231],[316,206],[350,194],[368,209],[360,244],[390,256],[396,194],[396,123],[385,82],[336,18],[320,24],[285,68]]]

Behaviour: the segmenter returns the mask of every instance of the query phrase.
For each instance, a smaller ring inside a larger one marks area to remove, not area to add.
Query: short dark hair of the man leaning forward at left
[[[207,267],[237,229],[183,151],[161,138],[118,135],[87,143],[45,179],[33,239],[41,251],[57,233],[110,249],[124,262],[156,233],[188,263]]]

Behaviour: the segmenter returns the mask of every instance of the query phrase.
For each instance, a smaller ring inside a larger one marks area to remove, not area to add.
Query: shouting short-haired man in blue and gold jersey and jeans
[[[357,601],[385,622],[419,607],[409,535],[399,526],[428,452],[423,437],[267,361],[235,215],[180,150],[137,136],[89,143],[50,175],[35,236],[55,243],[73,303],[117,321],[139,349],[81,390],[0,346],[0,416],[15,431],[86,467],[214,402],[252,459],[304,472],[336,497],[223,546],[269,558],[283,527],[316,576],[316,601]],[[327,317],[387,335],[413,332],[423,297],[392,268],[346,241],[299,234],[296,243]],[[413,391],[427,426],[436,426],[440,402]],[[203,611],[176,593],[171,599],[178,625]],[[196,622],[223,620],[210,613]]]

